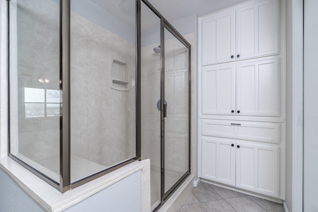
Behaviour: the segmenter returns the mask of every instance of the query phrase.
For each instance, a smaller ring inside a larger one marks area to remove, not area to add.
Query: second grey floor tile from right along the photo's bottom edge
[[[248,197],[235,197],[226,200],[237,212],[266,212]]]

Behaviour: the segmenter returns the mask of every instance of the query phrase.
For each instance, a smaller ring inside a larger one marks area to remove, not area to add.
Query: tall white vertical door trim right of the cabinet
[[[303,0],[292,0],[292,209],[303,211]]]

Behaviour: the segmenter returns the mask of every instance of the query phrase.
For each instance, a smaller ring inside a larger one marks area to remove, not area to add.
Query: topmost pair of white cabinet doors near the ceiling
[[[279,54],[279,0],[255,0],[199,18],[201,66]]]

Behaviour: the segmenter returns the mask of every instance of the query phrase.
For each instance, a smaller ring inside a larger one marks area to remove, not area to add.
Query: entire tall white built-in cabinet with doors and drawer
[[[285,33],[280,32],[285,19],[280,2],[249,0],[199,17],[198,174],[284,199],[286,71]]]

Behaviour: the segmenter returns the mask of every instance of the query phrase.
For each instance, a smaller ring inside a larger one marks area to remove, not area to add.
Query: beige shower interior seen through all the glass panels
[[[120,6],[117,0],[71,0],[71,183],[136,157],[135,0],[131,2],[133,8],[127,10],[130,4]],[[9,11],[10,154],[55,183],[60,180],[63,98],[59,3],[10,0]],[[189,47],[168,25],[161,28],[149,2],[140,3],[141,155],[151,160],[155,210],[190,172]],[[167,103],[164,118],[163,108],[157,108],[161,99]]]

